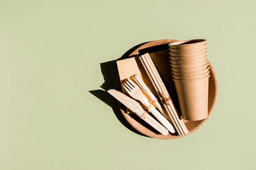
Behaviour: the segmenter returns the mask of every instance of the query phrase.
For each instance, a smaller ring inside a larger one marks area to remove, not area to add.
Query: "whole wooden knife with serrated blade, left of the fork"
[[[164,136],[168,135],[168,130],[165,127],[163,127],[163,125],[159,124],[159,122],[157,122],[150,115],[145,114],[145,110],[142,108],[140,103],[138,103],[136,100],[114,89],[108,90],[108,93],[111,94],[113,97],[115,97],[122,104],[124,104],[127,108],[129,108],[129,110],[136,113],[136,115],[138,115],[141,119],[143,119],[149,125],[154,127],[154,129],[156,129],[158,132],[160,132]]]

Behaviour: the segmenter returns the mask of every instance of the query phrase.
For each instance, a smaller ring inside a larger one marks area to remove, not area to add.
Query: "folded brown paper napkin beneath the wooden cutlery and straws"
[[[172,75],[170,70],[168,50],[164,50],[156,53],[150,53],[150,57],[154,62],[156,69],[159,72],[164,82],[164,85],[166,85],[168,92],[169,93],[175,92],[175,85],[174,85],[174,82],[172,81]],[[134,74],[138,74],[138,76],[142,78],[142,80],[145,82],[148,89],[151,90],[154,96],[156,97],[158,96],[138,57],[118,60],[116,63],[117,63],[118,73],[120,76],[121,83],[124,83],[125,79],[131,78],[131,76],[133,76]],[[127,94],[127,92],[125,92],[124,89],[123,89],[123,92],[124,94]],[[176,94],[170,93],[170,96],[172,97],[172,99],[173,97],[177,99]],[[157,100],[160,101],[158,97],[157,97]],[[177,103],[175,106],[177,106]],[[131,113],[131,111],[127,110],[127,113]],[[164,115],[164,117],[170,121],[170,118],[168,117],[168,115]]]

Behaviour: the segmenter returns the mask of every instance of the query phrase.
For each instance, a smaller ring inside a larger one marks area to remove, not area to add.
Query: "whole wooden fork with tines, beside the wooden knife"
[[[159,113],[159,111],[157,111],[154,106],[152,106],[152,103],[148,102],[147,98],[141,92],[141,89],[138,87],[138,85],[136,85],[131,79],[128,78],[127,81],[124,82],[123,87],[132,98],[140,101],[141,104],[143,104],[143,106],[145,106],[147,110],[149,110],[154,115],[154,117],[156,117],[157,120],[159,120],[159,122],[161,122],[161,124],[166,127],[166,129],[168,129],[168,131],[175,133],[172,124],[170,124],[170,122],[168,122],[168,120],[166,120],[166,118],[164,118],[163,115]]]

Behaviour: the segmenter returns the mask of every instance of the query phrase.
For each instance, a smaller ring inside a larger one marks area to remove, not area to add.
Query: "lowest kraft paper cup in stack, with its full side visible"
[[[182,117],[203,120],[208,117],[209,76],[196,80],[175,80]]]

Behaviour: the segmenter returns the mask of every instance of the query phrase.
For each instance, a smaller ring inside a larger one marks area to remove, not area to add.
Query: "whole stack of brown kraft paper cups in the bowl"
[[[205,39],[169,44],[170,66],[182,117],[202,120],[208,116],[209,67]]]

